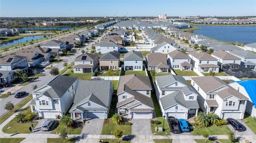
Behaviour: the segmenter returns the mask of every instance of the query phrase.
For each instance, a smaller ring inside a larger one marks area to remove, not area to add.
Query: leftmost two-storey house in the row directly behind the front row
[[[74,73],[93,73],[99,64],[98,53],[85,53],[75,58],[75,64],[72,66]]]

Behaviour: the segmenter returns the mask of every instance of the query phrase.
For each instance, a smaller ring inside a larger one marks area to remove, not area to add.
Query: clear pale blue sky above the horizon
[[[256,0],[0,0],[1,17],[255,16]]]

